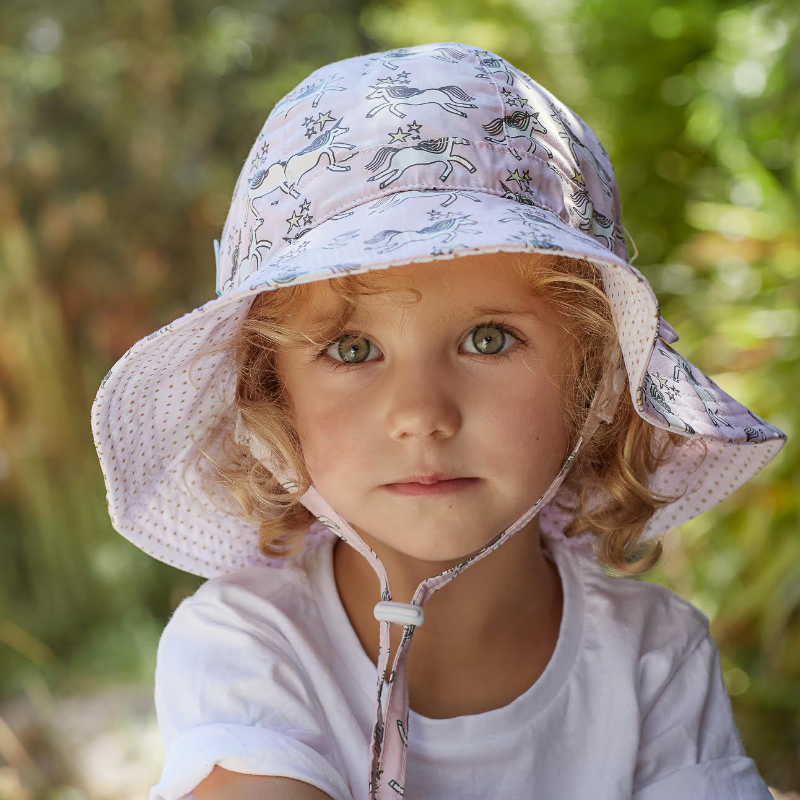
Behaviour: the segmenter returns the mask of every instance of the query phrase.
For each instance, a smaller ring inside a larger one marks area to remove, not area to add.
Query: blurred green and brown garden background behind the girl
[[[597,132],[681,352],[789,434],[646,580],[703,610],[745,747],[800,789],[798,6],[6,0],[0,23],[0,798],[128,800],[163,764],[158,637],[201,579],[116,533],[90,406],[214,297],[243,160],[312,70],[460,41]]]

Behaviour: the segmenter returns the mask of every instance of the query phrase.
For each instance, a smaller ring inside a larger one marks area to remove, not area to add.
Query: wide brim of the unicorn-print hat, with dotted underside
[[[191,366],[198,350],[234,335],[255,295],[265,290],[500,251],[591,262],[611,303],[634,408],[662,435],[670,431],[693,440],[653,476],[652,489],[681,497],[653,515],[645,538],[716,505],[783,446],[782,431],[670,346],[675,337],[664,336],[647,280],[597,239],[554,213],[488,192],[408,190],[327,219],[230,293],[139,340],[114,364],[92,405],[114,528],[154,558],[202,577],[280,566],[281,560],[258,551],[257,527],[226,511],[221,493],[205,494],[199,476],[186,469],[209,425],[227,419],[233,427],[235,376],[220,356]],[[555,507],[559,494],[539,514],[542,532],[556,537],[567,521]]]

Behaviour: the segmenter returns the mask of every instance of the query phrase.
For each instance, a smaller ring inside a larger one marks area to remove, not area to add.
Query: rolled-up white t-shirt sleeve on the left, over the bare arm
[[[150,800],[193,800],[215,765],[296,778],[352,800],[313,686],[274,625],[222,602],[207,582],[175,610],[156,657],[166,761]]]

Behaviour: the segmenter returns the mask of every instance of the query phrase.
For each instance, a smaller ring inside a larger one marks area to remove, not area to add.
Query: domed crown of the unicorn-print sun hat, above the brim
[[[627,260],[614,171],[594,132],[504,58],[445,42],[327,64],[275,104],[236,182],[217,294],[262,264],[270,281],[291,282],[303,237],[356,205],[449,189],[547,209]],[[453,231],[452,250],[469,245],[470,216],[445,208],[430,224]]]

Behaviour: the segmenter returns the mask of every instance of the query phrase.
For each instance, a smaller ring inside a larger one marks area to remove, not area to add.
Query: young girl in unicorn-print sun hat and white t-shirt
[[[115,528],[209,578],[151,800],[770,797],[708,618],[632,578],[785,435],[671,347],[623,230],[595,134],[489,51],[272,109],[218,297],[93,406]]]

